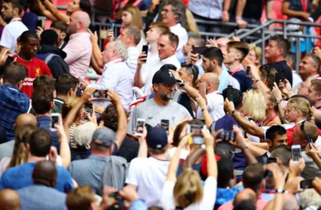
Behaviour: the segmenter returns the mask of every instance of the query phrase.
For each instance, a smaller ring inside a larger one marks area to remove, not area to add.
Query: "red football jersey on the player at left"
[[[42,74],[52,77],[50,69],[44,61],[37,58],[32,58],[31,61],[22,60],[16,55],[13,56],[13,58],[17,58],[17,62],[24,65],[28,70],[28,75],[24,79],[23,86],[20,92],[24,92],[26,95],[28,95],[29,98],[31,98],[32,93],[34,92],[34,88],[32,85],[34,84],[35,78]]]

